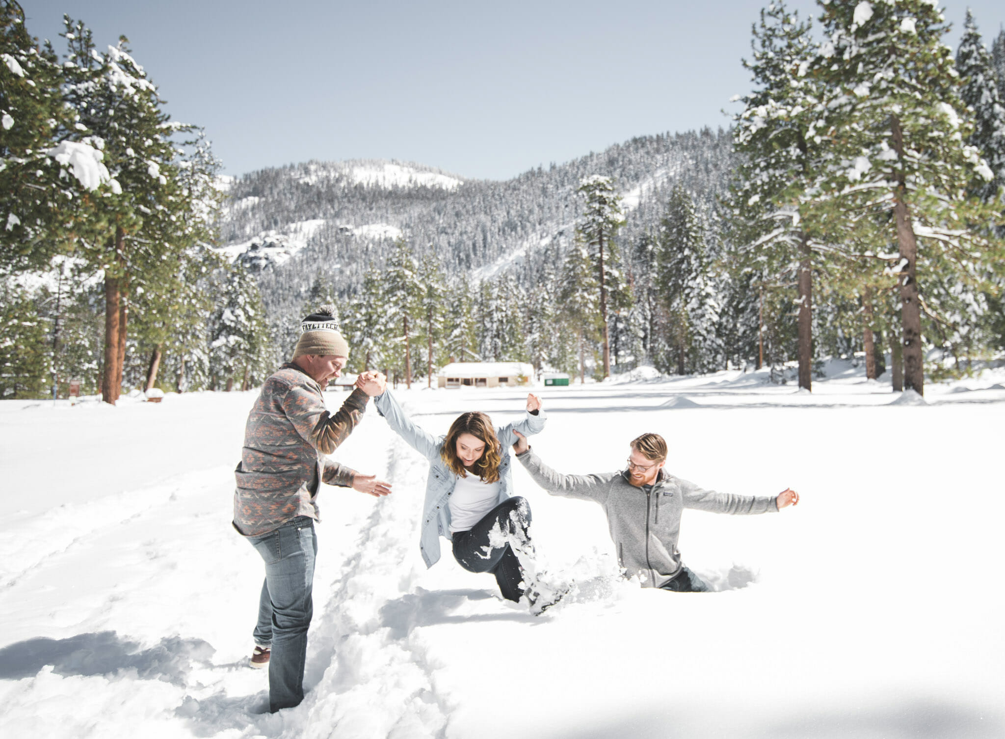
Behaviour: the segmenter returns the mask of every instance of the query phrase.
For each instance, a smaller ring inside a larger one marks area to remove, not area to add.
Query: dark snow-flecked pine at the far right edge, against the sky
[[[1005,104],[998,95],[991,54],[969,8],[956,69],[963,78],[960,98],[974,112],[974,133],[967,143],[977,147],[994,173],[991,180],[976,177],[971,190],[984,201],[995,200],[1005,187]]]

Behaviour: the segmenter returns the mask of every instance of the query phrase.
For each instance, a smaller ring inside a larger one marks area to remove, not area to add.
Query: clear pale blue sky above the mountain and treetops
[[[767,0],[21,0],[60,52],[68,13],[129,37],[228,174],[399,159],[508,179],[633,136],[729,125]],[[812,0],[793,0],[818,15]],[[968,3],[942,3],[956,48]],[[985,43],[1005,0],[971,0]]]

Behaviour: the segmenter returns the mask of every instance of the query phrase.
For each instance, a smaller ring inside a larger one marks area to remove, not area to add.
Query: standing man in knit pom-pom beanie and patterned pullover
[[[234,473],[233,526],[265,562],[251,666],[268,668],[273,713],[304,700],[321,483],[377,498],[391,492],[373,475],[327,456],[359,423],[370,396],[385,387],[383,375],[369,373],[374,381],[366,390],[354,390],[334,415],[328,411],[323,391],[349,361],[339,328],[334,306],[322,306],[300,323],[292,361],[265,380],[248,414]]]

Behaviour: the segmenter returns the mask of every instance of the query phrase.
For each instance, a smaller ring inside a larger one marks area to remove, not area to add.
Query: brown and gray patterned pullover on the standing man
[[[297,516],[321,521],[319,481],[349,488],[356,475],[326,454],[360,422],[367,400],[362,390],[353,390],[332,415],[321,385],[292,363],[265,380],[234,471],[234,528],[240,534],[265,534]]]

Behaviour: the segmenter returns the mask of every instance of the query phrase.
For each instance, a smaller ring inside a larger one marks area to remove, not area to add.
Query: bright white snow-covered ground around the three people
[[[370,409],[336,457],[395,492],[323,492],[310,692],[276,715],[246,666],[261,562],[230,527],[254,394],[0,402],[0,734],[1001,737],[1003,382],[892,406],[841,367],[812,394],[737,372],[541,389],[532,442],[560,471],[618,469],[654,430],[682,478],[802,501],[686,511],[684,562],[720,591],[666,593],[619,581],[600,509],[517,465],[544,566],[577,583],[540,617],[446,547],[425,569],[425,463]],[[399,396],[434,432],[524,397]]]

